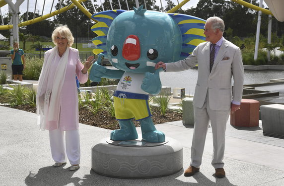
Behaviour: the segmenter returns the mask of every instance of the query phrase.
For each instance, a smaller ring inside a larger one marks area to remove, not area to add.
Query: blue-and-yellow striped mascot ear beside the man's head
[[[168,13],[177,25],[179,26],[182,34],[182,51],[180,59],[185,59],[189,56],[195,47],[202,42],[205,42],[205,35],[203,34],[203,28],[205,20],[185,14]]]

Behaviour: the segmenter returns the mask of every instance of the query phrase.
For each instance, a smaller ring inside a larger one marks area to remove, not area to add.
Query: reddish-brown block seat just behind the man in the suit
[[[254,99],[242,99],[239,110],[231,113],[230,123],[237,127],[257,127],[260,103]]]

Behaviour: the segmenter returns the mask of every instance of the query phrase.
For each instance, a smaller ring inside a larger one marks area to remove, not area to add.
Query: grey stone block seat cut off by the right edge
[[[263,135],[284,139],[284,105],[260,106]]]

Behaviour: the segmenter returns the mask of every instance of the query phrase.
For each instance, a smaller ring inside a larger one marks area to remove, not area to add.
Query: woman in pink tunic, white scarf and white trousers
[[[94,57],[88,57],[84,65],[80,62],[78,50],[71,48],[74,38],[66,25],[53,31],[52,40],[56,46],[45,53],[38,83],[37,122],[41,130],[49,130],[54,167],[65,165],[67,154],[70,171],[75,171],[80,163],[76,76],[80,83],[88,80]]]

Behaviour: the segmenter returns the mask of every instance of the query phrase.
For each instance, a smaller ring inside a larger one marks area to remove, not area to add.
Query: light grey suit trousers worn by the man
[[[230,110],[212,110],[209,106],[208,95],[202,108],[194,107],[194,132],[191,146],[191,166],[200,168],[204,151],[209,121],[213,134],[213,157],[211,164],[214,169],[223,168],[225,151],[225,131]]]

